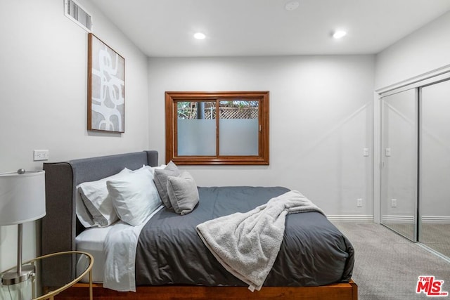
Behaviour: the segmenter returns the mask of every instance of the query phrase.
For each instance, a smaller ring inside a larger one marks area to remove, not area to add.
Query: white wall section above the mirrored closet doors
[[[450,65],[450,12],[376,56],[375,89]]]

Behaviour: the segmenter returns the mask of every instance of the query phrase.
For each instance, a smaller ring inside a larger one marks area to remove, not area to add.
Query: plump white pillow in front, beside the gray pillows
[[[153,183],[153,174],[145,167],[106,181],[106,186],[117,215],[131,226],[140,225],[162,204]]]

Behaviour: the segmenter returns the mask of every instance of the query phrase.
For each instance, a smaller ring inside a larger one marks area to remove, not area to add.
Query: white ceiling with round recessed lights
[[[90,1],[152,57],[378,53],[450,10],[450,0],[297,0],[294,11],[290,0]],[[338,29],[347,36],[332,39]]]

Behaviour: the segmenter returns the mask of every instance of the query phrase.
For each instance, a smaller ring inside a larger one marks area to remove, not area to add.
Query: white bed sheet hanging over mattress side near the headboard
[[[103,287],[120,292],[136,292],[134,264],[139,234],[162,208],[158,207],[139,226],[117,221],[108,227],[87,228],[75,238],[77,250],[94,256],[93,282],[103,282]],[[87,275],[82,282],[89,282]]]

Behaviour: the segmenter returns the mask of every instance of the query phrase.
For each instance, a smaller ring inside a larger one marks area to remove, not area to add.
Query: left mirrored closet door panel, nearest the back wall
[[[416,89],[382,98],[382,223],[416,240],[418,105]]]

